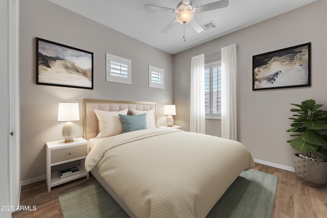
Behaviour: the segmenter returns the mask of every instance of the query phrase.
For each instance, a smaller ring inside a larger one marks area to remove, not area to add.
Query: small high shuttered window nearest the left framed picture
[[[115,55],[106,54],[106,81],[132,84],[132,61]]]

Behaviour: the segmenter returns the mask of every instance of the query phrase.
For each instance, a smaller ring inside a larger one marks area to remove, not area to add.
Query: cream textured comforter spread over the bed
[[[99,138],[85,162],[137,217],[205,217],[239,174],[254,167],[237,141],[147,129]]]

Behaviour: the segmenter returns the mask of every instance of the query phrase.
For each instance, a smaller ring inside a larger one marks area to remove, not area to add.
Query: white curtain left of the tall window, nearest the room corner
[[[204,54],[191,62],[190,131],[205,134]]]

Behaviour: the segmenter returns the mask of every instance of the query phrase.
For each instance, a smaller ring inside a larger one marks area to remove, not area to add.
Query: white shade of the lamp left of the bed
[[[58,108],[58,121],[77,121],[80,120],[78,103],[60,102]]]

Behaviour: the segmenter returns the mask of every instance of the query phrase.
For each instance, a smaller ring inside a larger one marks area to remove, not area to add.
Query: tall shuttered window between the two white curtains
[[[221,62],[204,65],[205,117],[221,118]]]

